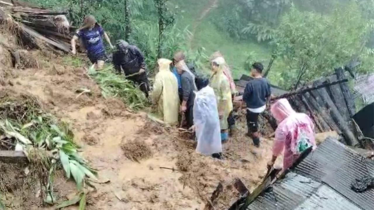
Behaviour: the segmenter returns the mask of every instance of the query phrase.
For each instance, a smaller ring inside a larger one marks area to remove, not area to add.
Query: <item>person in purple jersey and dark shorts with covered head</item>
[[[102,41],[102,36],[109,43],[110,48],[114,48],[110,42],[108,34],[105,33],[104,29],[97,23],[94,16],[86,16],[83,21],[82,27],[79,28],[77,33],[71,39],[71,52],[73,55],[77,53],[76,51],[76,41],[82,38],[85,48],[87,50],[87,56],[95,64],[96,69],[101,69],[104,67],[104,61],[107,58],[105,55],[104,43]]]

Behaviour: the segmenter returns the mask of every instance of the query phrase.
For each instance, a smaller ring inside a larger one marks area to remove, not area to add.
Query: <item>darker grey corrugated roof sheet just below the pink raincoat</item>
[[[374,162],[362,161],[361,155],[334,139],[325,140],[295,170],[326,183],[362,209],[374,209],[374,189],[362,193],[350,189],[353,180],[374,176]]]

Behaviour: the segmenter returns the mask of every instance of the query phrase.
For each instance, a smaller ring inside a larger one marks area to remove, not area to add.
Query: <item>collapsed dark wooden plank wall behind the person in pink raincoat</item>
[[[243,81],[239,80],[237,86],[245,87]],[[287,98],[295,111],[309,115],[317,133],[335,131],[343,137],[342,142],[346,145],[373,149],[373,142],[360,134],[352,118],[356,114],[356,107],[347,81],[343,68],[336,68],[333,75],[315,80],[294,92],[272,86],[272,91],[276,91],[273,100]],[[269,112],[265,111],[262,115],[275,130],[275,119]]]

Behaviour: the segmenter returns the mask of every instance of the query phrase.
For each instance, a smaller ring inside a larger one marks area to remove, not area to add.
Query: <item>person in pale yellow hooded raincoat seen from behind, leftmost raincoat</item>
[[[154,79],[151,99],[154,104],[157,104],[158,111],[162,114],[165,123],[178,124],[178,81],[170,71],[171,62],[164,58],[157,61],[159,72]]]

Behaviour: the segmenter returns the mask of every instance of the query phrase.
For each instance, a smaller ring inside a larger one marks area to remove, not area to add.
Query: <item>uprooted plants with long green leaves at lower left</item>
[[[76,182],[80,193],[75,203],[80,202],[81,210],[86,203],[84,187],[91,186],[86,177],[96,179],[96,172],[78,154],[79,146],[73,137],[68,125],[43,112],[37,99],[27,95],[0,96],[0,146],[24,151],[30,175],[40,182],[43,203],[56,203],[53,176],[62,167],[67,178],[72,177]]]

